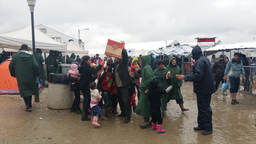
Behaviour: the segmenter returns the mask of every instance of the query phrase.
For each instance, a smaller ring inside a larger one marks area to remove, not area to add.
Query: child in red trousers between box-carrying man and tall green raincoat
[[[133,112],[136,111],[136,100],[135,100],[135,96],[137,94],[137,92],[135,91],[135,85],[137,85],[137,80],[134,78],[134,73],[133,71],[129,72],[129,75],[132,79],[132,84],[129,85],[129,91],[128,91],[128,96],[129,96],[129,101],[130,101],[130,113],[132,113],[132,107],[133,107]]]

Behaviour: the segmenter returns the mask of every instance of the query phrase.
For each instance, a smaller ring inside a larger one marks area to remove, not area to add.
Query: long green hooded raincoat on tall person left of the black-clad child
[[[142,69],[138,71],[138,74],[142,75],[142,83],[140,85],[140,98],[136,108],[136,113],[143,117],[151,117],[150,106],[148,101],[148,93],[145,93],[146,89],[150,89],[150,81],[154,79],[154,74],[150,66],[150,55],[141,56]]]

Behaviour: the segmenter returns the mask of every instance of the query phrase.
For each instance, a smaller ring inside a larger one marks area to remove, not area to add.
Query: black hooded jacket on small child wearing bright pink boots
[[[161,95],[166,94],[166,90],[160,90],[158,81],[152,80],[150,82],[151,88],[149,89],[149,105],[160,107],[161,106]]]

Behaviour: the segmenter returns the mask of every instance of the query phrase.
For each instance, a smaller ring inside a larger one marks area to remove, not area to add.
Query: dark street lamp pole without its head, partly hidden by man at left
[[[36,58],[36,46],[35,46],[35,39],[34,39],[34,12],[31,13],[31,28],[32,28],[32,48],[33,48],[33,55]],[[39,90],[38,90],[38,82],[36,80],[36,90],[34,94],[34,101],[39,102]]]

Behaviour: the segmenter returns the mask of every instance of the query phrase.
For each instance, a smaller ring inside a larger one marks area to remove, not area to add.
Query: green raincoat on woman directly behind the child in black
[[[166,79],[166,74],[168,73],[168,71],[169,70],[167,70],[166,68],[164,68],[162,70],[157,68],[156,70],[154,70],[155,79],[158,81],[159,89],[161,89],[161,90],[165,90],[165,89],[167,89],[167,87],[170,86],[169,79],[171,79],[171,78]],[[167,103],[169,102],[168,96],[169,96],[169,93],[161,96],[161,101],[162,101],[161,110],[162,111],[166,111]]]

